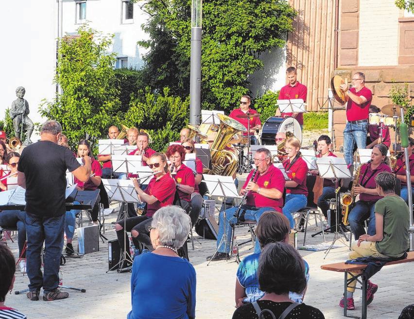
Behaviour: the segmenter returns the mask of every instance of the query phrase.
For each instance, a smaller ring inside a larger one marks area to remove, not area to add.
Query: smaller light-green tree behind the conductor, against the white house
[[[94,142],[106,134],[120,106],[114,85],[116,53],[107,52],[112,38],[85,25],[78,29],[78,37],[58,39],[54,83],[63,93],[52,102],[44,100],[40,113],[62,124],[71,143],[86,138]]]

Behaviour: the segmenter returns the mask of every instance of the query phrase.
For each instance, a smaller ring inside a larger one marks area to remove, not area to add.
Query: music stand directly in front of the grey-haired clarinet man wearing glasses
[[[226,199],[227,197],[230,198],[240,198],[239,194],[237,193],[236,185],[234,185],[233,177],[231,176],[220,176],[220,175],[204,175],[204,181],[206,182],[208,192],[210,193],[210,196],[223,196],[223,203],[224,203],[224,234],[223,237],[220,239],[219,245],[217,246],[216,251],[211,256],[210,261],[208,262],[207,266],[210,264],[211,260],[214,258],[214,256],[218,253],[219,248],[222,244],[224,244],[224,248],[227,246],[230,247],[230,242],[227,238],[226,233]],[[238,258],[238,256],[237,256]],[[227,256],[226,256],[227,260]]]

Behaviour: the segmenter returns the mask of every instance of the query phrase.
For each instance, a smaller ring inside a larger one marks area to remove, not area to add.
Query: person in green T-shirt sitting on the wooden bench
[[[396,177],[394,174],[381,172],[375,177],[375,182],[378,194],[383,196],[377,201],[374,208],[375,231],[370,234],[362,234],[358,237],[358,241],[352,242],[349,259],[374,257],[392,261],[402,257],[409,248],[410,213],[404,200],[394,193]],[[352,280],[352,276],[348,274],[347,294],[339,302],[341,307],[344,307],[344,299],[346,298],[346,309],[355,309],[353,294],[356,284],[357,282]],[[368,280],[367,305],[374,300],[374,294],[377,290],[378,285]]]

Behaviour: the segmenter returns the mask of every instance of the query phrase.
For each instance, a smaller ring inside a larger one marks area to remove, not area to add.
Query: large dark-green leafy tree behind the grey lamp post
[[[150,14],[143,25],[150,40],[144,57],[144,79],[154,89],[190,93],[190,1],[152,0],[142,5]],[[284,0],[203,1],[203,108],[233,109],[247,89],[249,74],[263,68],[260,54],[285,44],[296,12]]]

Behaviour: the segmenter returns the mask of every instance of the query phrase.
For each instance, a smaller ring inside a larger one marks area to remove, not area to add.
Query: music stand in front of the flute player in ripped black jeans
[[[134,184],[132,183],[132,180],[129,179],[102,179],[102,183],[104,184],[106,193],[108,194],[108,197],[110,200],[116,200],[121,201],[124,203],[124,210],[125,210],[125,216],[127,214],[127,203],[134,203],[138,204],[141,203],[141,201],[138,198],[138,194],[135,191]],[[124,218],[124,225],[123,225],[123,235],[124,238],[127,236],[126,232],[126,218]],[[131,264],[133,263],[132,257],[127,253],[126,251],[126,241],[124,240],[123,244],[123,253],[120,256],[120,261],[118,264],[114,265],[112,268],[108,269],[108,271],[113,270],[116,266],[122,266],[123,262],[127,261]],[[118,278],[121,274],[121,271],[118,272]]]

